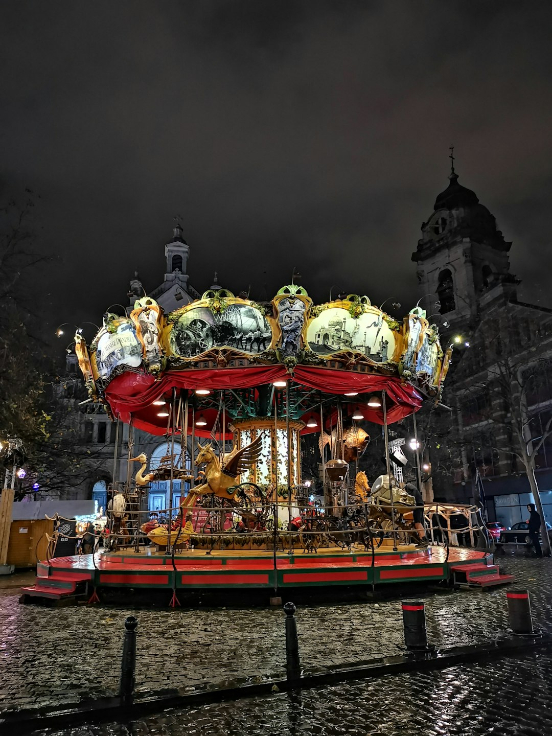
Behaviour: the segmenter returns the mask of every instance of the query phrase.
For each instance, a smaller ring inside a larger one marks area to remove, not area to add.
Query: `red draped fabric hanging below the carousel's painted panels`
[[[160,378],[149,373],[123,374],[113,378],[107,386],[105,396],[113,414],[123,422],[130,422],[132,415],[136,428],[150,434],[165,434],[166,417],[158,417],[159,408],[152,406],[155,400],[168,394],[171,389],[249,389],[274,381],[286,381],[289,374],[282,365],[197,369],[189,371],[169,371]],[[357,392],[385,391],[392,400],[387,409],[389,424],[412,414],[422,406],[422,397],[409,383],[403,383],[393,376],[355,373],[343,370],[297,366],[292,379],[301,386],[317,389],[325,394],[345,394]],[[359,403],[358,407],[364,419],[376,424],[383,424],[381,408],[371,408]],[[355,405],[351,405],[353,411]],[[205,417],[207,419],[207,417]],[[190,419],[191,422],[191,419]],[[316,431],[316,428],[313,429]],[[209,436],[210,431],[196,430],[199,436]]]

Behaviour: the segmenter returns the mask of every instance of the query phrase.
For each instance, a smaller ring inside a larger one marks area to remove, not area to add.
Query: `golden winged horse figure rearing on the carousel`
[[[259,435],[250,445],[241,447],[241,450],[234,447],[232,452],[224,457],[221,465],[211,445],[202,447],[199,450],[196,465],[197,467],[205,465],[205,470],[200,471],[205,478],[205,483],[192,488],[188,496],[180,501],[180,506],[182,508],[194,506],[197,496],[205,494],[233,500],[236,490],[232,486],[236,486],[237,476],[250,470],[258,461],[261,450],[262,438]]]

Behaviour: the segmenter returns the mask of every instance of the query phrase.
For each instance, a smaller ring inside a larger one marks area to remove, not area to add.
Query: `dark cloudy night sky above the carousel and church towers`
[[[29,277],[52,326],[160,283],[182,216],[191,283],[272,297],[294,266],[417,300],[420,225],[460,183],[550,305],[552,11],[542,1],[8,0],[0,199],[40,195]],[[266,285],[266,286],[265,286]]]

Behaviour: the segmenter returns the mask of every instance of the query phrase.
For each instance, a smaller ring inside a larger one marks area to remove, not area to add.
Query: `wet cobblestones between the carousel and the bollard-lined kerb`
[[[500,565],[528,587],[535,620],[552,631],[552,559],[500,558]],[[506,629],[504,588],[433,594],[425,603],[436,645],[489,641]],[[57,609],[21,605],[18,589],[7,587],[0,590],[0,710],[116,693],[130,614],[139,620],[138,693],[283,676],[281,609]],[[403,645],[397,601],[301,606],[297,626],[302,665],[311,671],[392,656]]]

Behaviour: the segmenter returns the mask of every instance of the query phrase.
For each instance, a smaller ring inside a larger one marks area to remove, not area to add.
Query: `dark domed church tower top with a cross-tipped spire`
[[[475,192],[459,183],[452,146],[450,151],[449,185],[422,224],[412,260],[418,264],[420,303],[428,317],[442,314],[451,328],[465,329],[491,304],[515,299],[519,282],[509,272],[512,243],[504,240]]]

